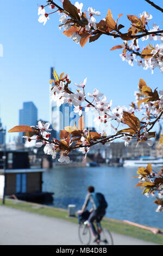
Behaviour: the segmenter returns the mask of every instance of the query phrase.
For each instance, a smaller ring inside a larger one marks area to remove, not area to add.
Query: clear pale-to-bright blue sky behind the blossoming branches
[[[122,62],[119,56],[121,50],[110,51],[112,46],[121,43],[120,40],[103,35],[82,48],[59,31],[58,14],[49,16],[50,20],[45,26],[37,21],[37,4],[45,4],[46,1],[12,2],[1,1],[0,10],[0,44],[3,45],[3,57],[0,57],[0,117],[8,130],[18,124],[18,109],[22,108],[23,101],[33,101],[39,109],[39,118],[49,119],[48,81],[51,66],[55,66],[59,74],[66,72],[70,75],[72,84],[87,77],[86,91],[92,92],[93,88],[98,88],[109,101],[113,100],[114,106],[128,105],[134,100],[140,78],[151,88],[162,89],[162,75],[158,69],[152,75],[150,70]],[[143,0],[133,4],[128,0],[82,2],[85,10],[93,7],[101,11],[102,19],[109,8],[115,20],[122,13],[120,23],[126,25],[126,30],[130,26],[126,15],[139,15],[145,10],[153,15],[149,27],[152,28],[155,22],[162,29],[160,11]],[[60,1],[56,3],[61,6]],[[155,0],[155,3],[161,5],[162,1]],[[97,17],[96,20],[100,19]],[[71,85],[71,88],[74,86]]]

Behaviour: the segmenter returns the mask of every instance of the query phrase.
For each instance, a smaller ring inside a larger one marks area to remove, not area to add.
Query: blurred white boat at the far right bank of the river
[[[163,166],[163,159],[157,159],[155,157],[140,157],[139,159],[128,159],[124,160],[123,167],[146,167],[148,163],[151,163],[152,166],[155,167]]]

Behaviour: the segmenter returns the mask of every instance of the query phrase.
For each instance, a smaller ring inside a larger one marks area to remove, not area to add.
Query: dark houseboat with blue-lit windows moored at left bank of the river
[[[0,152],[1,198],[5,183],[5,196],[35,203],[53,202],[53,193],[42,192],[45,168],[30,168],[28,152],[7,151],[5,155],[3,159],[3,152]]]

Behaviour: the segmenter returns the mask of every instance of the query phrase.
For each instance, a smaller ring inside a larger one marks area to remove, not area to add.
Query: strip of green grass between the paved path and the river
[[[0,200],[0,204],[2,204],[2,200]],[[68,213],[64,209],[58,209],[51,206],[27,203],[12,199],[5,199],[5,206],[18,210],[33,212],[34,214],[45,215],[53,218],[60,218],[61,220],[78,223],[78,219],[68,217]],[[106,229],[109,229],[110,231],[117,234],[132,236],[140,240],[163,245],[163,235],[155,235],[151,231],[134,227],[133,225],[124,223],[122,221],[104,218],[104,220],[102,221],[102,227],[105,227]],[[161,231],[163,232],[163,230]]]

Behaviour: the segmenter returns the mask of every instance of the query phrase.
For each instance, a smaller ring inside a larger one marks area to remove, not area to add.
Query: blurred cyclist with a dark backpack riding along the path
[[[93,186],[87,187],[87,195],[82,210],[79,211],[80,213],[83,213],[85,211],[89,202],[92,203],[92,208],[90,210],[90,216],[87,221],[89,222],[92,233],[95,236],[95,240],[93,242],[96,242],[100,240],[100,236],[99,232],[96,231],[93,222],[96,220],[97,227],[101,229],[100,221],[105,215],[105,209],[107,208],[108,204],[106,203],[106,200],[102,193],[95,193],[95,188]]]

